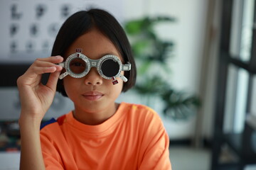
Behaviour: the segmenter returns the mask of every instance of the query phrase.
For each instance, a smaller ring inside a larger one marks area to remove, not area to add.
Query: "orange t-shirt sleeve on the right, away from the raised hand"
[[[170,170],[169,135],[157,113],[148,119],[144,126],[142,141],[142,163],[139,169]]]

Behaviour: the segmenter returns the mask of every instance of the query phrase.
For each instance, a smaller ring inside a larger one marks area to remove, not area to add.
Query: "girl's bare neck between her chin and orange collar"
[[[84,123],[85,125],[100,125],[116,113],[118,106],[118,103],[114,103],[113,106],[110,106],[103,111],[85,111],[75,106],[73,116],[76,120],[80,123]]]

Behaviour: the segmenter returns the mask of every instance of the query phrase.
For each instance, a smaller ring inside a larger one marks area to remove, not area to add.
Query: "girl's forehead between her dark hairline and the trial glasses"
[[[97,60],[107,54],[116,55],[122,59],[114,44],[97,29],[92,29],[77,38],[68,48],[65,57],[75,53],[76,48],[82,49],[82,54],[92,60]]]

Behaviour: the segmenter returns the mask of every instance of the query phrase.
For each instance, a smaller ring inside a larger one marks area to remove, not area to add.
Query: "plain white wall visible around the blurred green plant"
[[[176,23],[158,28],[162,38],[169,38],[175,43],[175,56],[169,63],[171,84],[178,90],[198,94],[207,1],[124,0],[123,8],[124,20],[145,15],[169,15],[177,19]],[[127,98],[124,100],[129,101]],[[195,119],[193,117],[185,122],[164,119],[164,125],[171,139],[183,139],[193,136]]]

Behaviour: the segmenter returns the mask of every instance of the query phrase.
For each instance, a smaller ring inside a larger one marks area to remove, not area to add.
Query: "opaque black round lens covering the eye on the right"
[[[108,59],[102,62],[100,69],[105,77],[114,77],[119,72],[119,64],[117,61]]]

